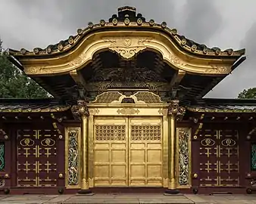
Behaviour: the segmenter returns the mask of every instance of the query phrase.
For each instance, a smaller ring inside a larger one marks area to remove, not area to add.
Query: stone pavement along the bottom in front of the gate
[[[256,204],[256,195],[173,195],[162,194],[95,194],[0,196],[0,204],[61,204],[61,203],[176,203],[176,204]]]

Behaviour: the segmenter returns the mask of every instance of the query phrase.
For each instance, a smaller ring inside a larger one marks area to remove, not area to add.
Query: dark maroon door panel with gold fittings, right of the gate
[[[238,132],[203,129],[199,136],[200,186],[239,186]]]

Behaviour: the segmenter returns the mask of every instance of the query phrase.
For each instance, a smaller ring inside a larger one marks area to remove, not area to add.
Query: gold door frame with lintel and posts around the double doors
[[[97,118],[161,119],[162,186],[168,186],[168,104],[89,104],[89,187],[94,187],[94,121]]]

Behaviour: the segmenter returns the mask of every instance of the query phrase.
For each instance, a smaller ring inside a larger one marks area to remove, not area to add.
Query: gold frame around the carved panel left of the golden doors
[[[77,131],[78,133],[78,181],[79,184],[77,185],[70,185],[68,184],[68,175],[69,175],[69,168],[68,168],[68,153],[70,150],[69,147],[69,131]],[[65,128],[65,187],[66,188],[80,188],[80,177],[81,177],[81,128],[78,127],[67,127]]]

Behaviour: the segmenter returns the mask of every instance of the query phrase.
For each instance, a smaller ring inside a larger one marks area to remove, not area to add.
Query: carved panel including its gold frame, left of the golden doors
[[[80,188],[80,138],[80,128],[65,128],[65,186],[67,188]]]

